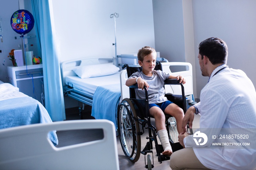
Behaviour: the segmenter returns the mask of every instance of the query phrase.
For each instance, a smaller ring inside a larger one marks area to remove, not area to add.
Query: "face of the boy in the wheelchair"
[[[143,62],[139,61],[139,65],[142,67],[143,72],[152,72],[155,68],[155,62],[157,59],[157,53],[150,53],[144,57]]]

